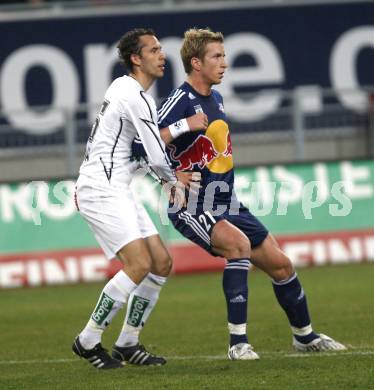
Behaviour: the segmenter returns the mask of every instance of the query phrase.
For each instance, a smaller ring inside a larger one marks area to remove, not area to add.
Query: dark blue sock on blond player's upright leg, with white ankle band
[[[227,260],[223,271],[223,291],[227,303],[227,320],[230,329],[230,346],[248,343],[245,327],[247,324],[249,259]],[[236,325],[243,325],[240,330]],[[235,328],[235,329],[233,329]]]

